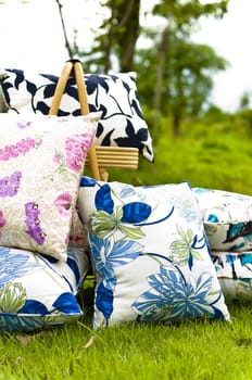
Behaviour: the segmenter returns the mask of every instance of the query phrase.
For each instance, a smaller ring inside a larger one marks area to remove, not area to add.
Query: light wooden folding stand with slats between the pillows
[[[81,115],[89,113],[88,97],[84,79],[84,71],[78,60],[67,61],[62,69],[56,84],[54,97],[50,107],[50,115],[56,115],[64,93],[67,79],[74,75]],[[129,168],[137,169],[139,162],[139,151],[137,148],[103,147],[92,144],[86,159],[86,165],[90,166],[91,175],[98,180],[108,181],[109,168]]]

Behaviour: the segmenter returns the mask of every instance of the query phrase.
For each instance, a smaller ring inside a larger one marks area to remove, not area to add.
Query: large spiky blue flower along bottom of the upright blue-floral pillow
[[[214,304],[219,293],[211,293],[212,276],[201,274],[188,280],[177,267],[160,267],[160,273],[149,276],[150,289],[131,305],[139,321],[166,322],[202,316],[222,318]]]

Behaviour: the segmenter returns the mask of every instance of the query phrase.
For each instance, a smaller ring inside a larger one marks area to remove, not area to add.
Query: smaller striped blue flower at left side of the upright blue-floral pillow
[[[97,274],[104,279],[106,288],[113,290],[116,286],[114,267],[136,259],[142,251],[142,245],[131,240],[113,242],[112,239],[99,239],[96,236],[90,236],[89,240]]]

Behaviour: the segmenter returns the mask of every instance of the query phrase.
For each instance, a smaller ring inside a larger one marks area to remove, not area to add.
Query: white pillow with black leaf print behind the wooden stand
[[[5,69],[1,77],[10,111],[49,113],[58,76]],[[152,162],[152,139],[138,99],[136,73],[86,74],[85,81],[90,112],[102,112],[96,143],[138,148],[140,154]],[[59,116],[68,114],[80,114],[74,77],[67,81],[59,110]]]

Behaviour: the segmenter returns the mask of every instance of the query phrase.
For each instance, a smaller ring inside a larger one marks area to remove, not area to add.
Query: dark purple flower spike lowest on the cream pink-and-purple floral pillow
[[[42,231],[39,220],[40,211],[38,204],[35,202],[28,202],[25,204],[26,214],[26,226],[28,230],[26,231],[30,238],[33,238],[39,245],[42,245],[46,239],[46,233]]]

